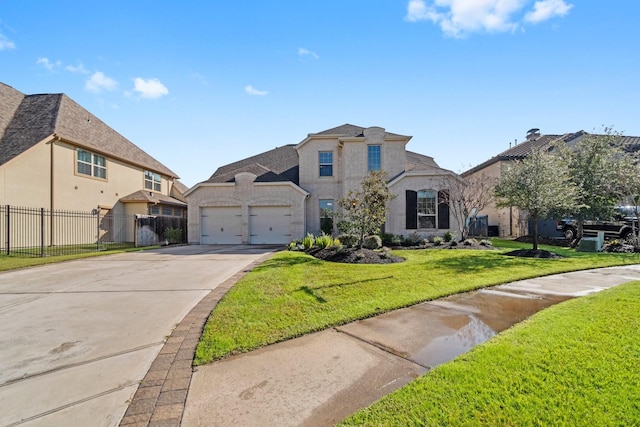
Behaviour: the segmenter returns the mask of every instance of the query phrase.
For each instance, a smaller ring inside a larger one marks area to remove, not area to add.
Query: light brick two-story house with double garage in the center
[[[185,194],[190,243],[288,243],[336,233],[338,200],[360,191],[371,170],[395,197],[385,232],[429,236],[450,229],[444,191],[455,173],[406,151],[410,136],[345,124],[220,167]]]

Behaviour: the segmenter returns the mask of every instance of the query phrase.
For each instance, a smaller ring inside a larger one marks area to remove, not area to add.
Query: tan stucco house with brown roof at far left
[[[1,205],[185,217],[177,179],[68,96],[0,83]]]

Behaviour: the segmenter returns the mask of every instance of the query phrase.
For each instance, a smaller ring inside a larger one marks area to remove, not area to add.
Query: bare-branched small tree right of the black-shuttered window
[[[458,177],[447,181],[448,191],[443,191],[444,203],[449,205],[460,241],[469,236],[469,220],[474,220],[478,212],[486,208],[493,200],[495,179],[485,173],[467,178]]]

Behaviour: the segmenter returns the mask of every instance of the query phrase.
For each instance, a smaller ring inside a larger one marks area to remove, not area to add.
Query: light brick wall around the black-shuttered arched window
[[[395,194],[388,205],[387,222],[385,224],[385,232],[395,235],[407,236],[416,233],[425,238],[431,236],[442,236],[446,231],[451,231],[454,235],[458,236],[458,230],[456,227],[455,219],[449,213],[449,228],[448,229],[416,229],[408,230],[406,228],[406,190],[420,191],[420,190],[433,190],[441,191],[447,190],[450,186],[447,184],[450,179],[454,179],[450,175],[445,174],[433,174],[433,175],[405,175],[398,180],[393,181],[389,185],[389,190],[392,194]]]

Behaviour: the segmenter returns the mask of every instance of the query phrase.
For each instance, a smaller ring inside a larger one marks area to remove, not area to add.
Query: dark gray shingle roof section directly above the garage
[[[221,166],[204,182],[234,182],[236,174],[250,172],[257,176],[256,182],[291,181],[298,184],[298,171],[298,152],[295,145],[290,144]]]

